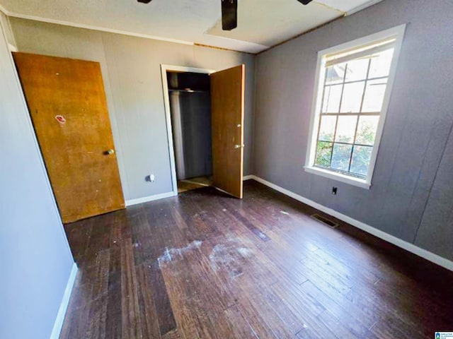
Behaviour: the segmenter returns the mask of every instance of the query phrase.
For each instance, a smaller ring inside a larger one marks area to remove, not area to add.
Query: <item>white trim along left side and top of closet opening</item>
[[[176,179],[175,149],[173,145],[173,131],[171,130],[170,95],[168,95],[167,71],[191,72],[202,74],[211,74],[217,71],[215,71],[214,69],[198,69],[196,67],[161,64],[162,91],[164,93],[165,121],[167,125],[168,154],[170,155],[170,167],[171,167],[171,186],[173,189],[173,196],[177,196],[178,180]]]

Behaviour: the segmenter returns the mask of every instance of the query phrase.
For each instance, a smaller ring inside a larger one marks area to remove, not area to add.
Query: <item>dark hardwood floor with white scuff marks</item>
[[[66,225],[79,273],[61,338],[453,331],[452,272],[314,213],[248,181],[243,201],[197,189]]]

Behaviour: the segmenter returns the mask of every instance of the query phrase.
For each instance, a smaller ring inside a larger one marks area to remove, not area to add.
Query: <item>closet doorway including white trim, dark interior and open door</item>
[[[173,193],[214,186],[242,198],[245,66],[161,69]]]

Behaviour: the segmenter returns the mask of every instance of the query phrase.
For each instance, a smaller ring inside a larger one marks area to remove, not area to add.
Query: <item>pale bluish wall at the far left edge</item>
[[[0,338],[49,338],[73,259],[0,27]]]

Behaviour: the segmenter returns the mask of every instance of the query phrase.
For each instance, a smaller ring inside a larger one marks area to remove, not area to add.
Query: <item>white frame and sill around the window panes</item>
[[[317,174],[322,177],[327,177],[329,179],[334,179],[339,182],[344,182],[346,184],[351,184],[354,186],[362,187],[363,189],[370,189],[372,186],[372,177],[374,173],[374,166],[376,165],[377,153],[379,151],[379,145],[381,143],[382,132],[384,130],[384,123],[386,118],[387,109],[389,108],[389,102],[391,97],[391,90],[394,85],[396,67],[398,64],[399,55],[401,52],[401,45],[403,44],[404,32],[406,31],[406,24],[398,25],[394,28],[389,28],[388,30],[382,30],[381,32],[374,33],[372,35],[367,35],[350,42],[345,42],[343,44],[338,44],[336,46],[330,47],[328,49],[323,49],[318,52],[318,60],[316,63],[316,77],[315,77],[315,87],[313,94],[313,102],[311,105],[311,119],[310,119],[310,131],[309,131],[309,141],[306,152],[306,160],[304,165],[305,172],[311,174]],[[384,101],[382,103],[382,109],[379,114],[379,124],[377,126],[376,137],[374,139],[374,145],[372,150],[371,159],[369,161],[369,168],[367,177],[361,179],[359,177],[353,177],[352,175],[343,174],[340,172],[335,172],[331,169],[323,169],[322,167],[314,166],[315,156],[316,156],[316,144],[318,139],[318,129],[319,129],[319,120],[321,119],[321,106],[322,106],[322,94],[323,94],[323,85],[324,85],[324,76],[326,70],[326,55],[331,54],[340,54],[340,52],[345,52],[350,49],[357,49],[367,44],[372,44],[374,42],[379,42],[389,38],[395,38],[394,42],[394,54],[391,59],[391,66],[389,71],[389,78],[386,85],[386,90],[384,94]]]

